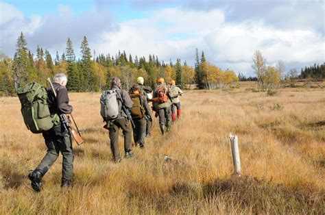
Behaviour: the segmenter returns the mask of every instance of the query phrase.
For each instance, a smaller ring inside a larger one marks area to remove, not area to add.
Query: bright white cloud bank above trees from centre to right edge
[[[173,34],[185,36],[173,38]],[[169,58],[173,61],[181,58],[191,64],[196,47],[213,64],[249,74],[252,74],[252,55],[256,49],[262,51],[269,64],[282,60],[308,65],[325,60],[324,40],[316,31],[276,29],[262,21],[227,23],[220,10],[158,10],[148,18],[120,23],[119,31],[104,33],[102,41],[95,45],[100,53],[125,50],[146,57],[155,53],[165,62]]]

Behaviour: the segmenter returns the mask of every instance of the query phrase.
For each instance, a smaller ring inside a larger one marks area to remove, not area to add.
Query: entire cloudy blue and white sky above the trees
[[[70,37],[75,53],[83,36],[96,53],[158,55],[194,64],[195,48],[223,69],[252,75],[252,55],[291,68],[325,62],[324,1],[294,0],[0,0],[0,51],[13,56],[21,31],[28,47],[53,58]]]

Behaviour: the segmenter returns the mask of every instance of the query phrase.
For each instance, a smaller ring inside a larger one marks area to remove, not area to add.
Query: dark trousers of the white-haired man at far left
[[[56,162],[59,153],[62,153],[62,179],[71,180],[73,175],[73,150],[71,144],[71,135],[64,131],[62,136],[44,134],[47,153],[36,170],[45,175],[49,168]]]

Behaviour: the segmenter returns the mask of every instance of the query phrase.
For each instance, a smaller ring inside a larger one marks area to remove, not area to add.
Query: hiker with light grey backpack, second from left
[[[112,150],[113,159],[118,163],[121,162],[119,129],[123,131],[125,158],[134,156],[131,152],[132,125],[131,119],[128,118],[129,109],[132,108],[133,102],[128,92],[121,90],[121,80],[119,78],[113,77],[110,85],[110,90],[106,90],[101,95],[101,104],[104,107],[104,110],[101,108],[101,116],[106,121],[106,128],[109,130],[110,149]],[[113,111],[112,114],[110,113],[111,110]]]

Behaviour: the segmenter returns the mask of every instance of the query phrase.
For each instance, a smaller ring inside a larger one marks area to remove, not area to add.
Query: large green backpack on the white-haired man
[[[51,116],[47,105],[47,91],[38,83],[29,83],[19,88],[19,100],[21,101],[21,114],[23,114],[27,129],[34,134],[48,131],[54,125],[60,123],[57,114]]]

